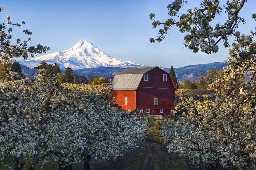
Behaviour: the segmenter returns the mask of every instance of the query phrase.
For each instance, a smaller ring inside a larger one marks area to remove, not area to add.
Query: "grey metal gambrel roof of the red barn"
[[[144,73],[155,67],[127,68],[117,73],[112,81],[113,90],[136,90]]]

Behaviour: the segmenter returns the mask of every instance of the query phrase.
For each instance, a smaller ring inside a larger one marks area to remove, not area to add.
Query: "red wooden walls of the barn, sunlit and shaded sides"
[[[133,74],[135,73],[136,72],[133,72]],[[144,81],[144,74],[148,74],[148,81]],[[112,90],[111,99],[113,100],[113,97],[116,97],[116,104],[121,106],[124,110],[137,108],[146,112],[147,109],[149,109],[149,114],[151,115],[158,114],[168,116],[170,110],[175,109],[176,89],[172,83],[171,77],[158,67],[152,68],[147,72],[145,71],[144,74],[138,87],[136,86],[136,90],[123,90],[122,87],[119,87],[122,90]],[[164,74],[166,74],[167,81],[164,81]],[[129,76],[127,77],[129,78]],[[136,80],[137,83],[139,79]],[[132,77],[130,82],[134,80],[135,79]],[[125,85],[123,85],[123,87],[125,88]],[[127,105],[124,104],[125,97],[127,97]],[[158,105],[154,105],[154,98],[158,99]],[[163,113],[160,113],[161,109],[163,109]]]

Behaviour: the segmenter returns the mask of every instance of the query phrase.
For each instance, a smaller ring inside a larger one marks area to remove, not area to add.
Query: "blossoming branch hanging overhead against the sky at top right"
[[[155,20],[155,14],[150,13],[150,19],[154,21],[152,23],[153,27],[163,26],[159,30],[158,37],[150,38],[150,42],[162,42],[172,26],[176,26],[182,33],[189,32],[184,37],[184,47],[193,50],[194,53],[197,53],[200,48],[203,53],[211,54],[218,52],[218,43],[220,41],[223,41],[223,45],[229,48],[229,36],[234,36],[236,42],[239,43],[245,38],[252,38],[255,34],[255,31],[251,31],[249,36],[240,36],[240,32],[236,31],[239,25],[243,25],[246,22],[239,15],[239,12],[242,9],[244,10],[247,0],[226,0],[225,3],[223,1],[219,2],[219,0],[204,0],[201,2],[200,7],[196,6],[193,10],[187,9],[187,13],[178,14],[188,2],[189,0],[175,0],[172,4],[169,4],[167,8],[170,18],[162,22]],[[192,1],[190,2],[193,3]],[[213,26],[211,22],[217,15],[227,16],[227,20],[224,23],[218,23]],[[256,14],[253,14],[252,18],[256,19]],[[255,54],[255,44],[251,44],[251,46],[253,50],[250,51],[250,54]],[[241,52],[240,56],[245,56],[247,55],[246,53],[248,52]]]

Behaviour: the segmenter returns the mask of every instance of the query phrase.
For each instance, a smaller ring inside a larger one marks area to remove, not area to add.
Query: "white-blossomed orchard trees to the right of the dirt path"
[[[187,112],[163,131],[169,152],[211,169],[247,169],[256,161],[255,32],[236,34],[228,66],[208,85],[219,94],[215,99],[181,96],[176,109],[186,108]],[[240,95],[237,84],[242,77],[246,77],[249,91]]]

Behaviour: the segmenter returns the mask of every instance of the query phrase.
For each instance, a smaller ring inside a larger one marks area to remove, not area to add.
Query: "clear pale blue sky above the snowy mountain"
[[[167,5],[172,0],[4,0],[0,13],[2,21],[11,17],[12,23],[25,21],[24,29],[32,31],[32,41],[28,46],[42,44],[51,48],[48,53],[63,51],[74,46],[80,39],[86,39],[104,53],[121,60],[159,67],[182,67],[193,64],[223,62],[228,56],[228,49],[219,45],[219,52],[206,55],[194,54],[183,48],[182,34],[172,28],[169,36],[161,43],[150,43],[151,37],[158,35],[153,29],[149,14],[154,12],[156,19],[168,18]],[[190,1],[190,8],[199,2]],[[255,13],[256,2],[247,2],[240,14],[247,23],[241,27],[241,33],[248,34],[254,29],[255,22],[251,15]],[[225,21],[226,16],[218,16],[218,21]],[[13,40],[25,40],[21,29],[13,29]],[[232,42],[232,40],[230,40]]]

